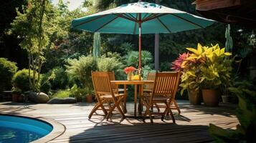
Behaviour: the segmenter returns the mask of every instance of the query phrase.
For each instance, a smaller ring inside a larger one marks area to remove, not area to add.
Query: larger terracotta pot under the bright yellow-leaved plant
[[[219,104],[219,92],[214,89],[202,89],[204,104],[209,107],[217,107]]]

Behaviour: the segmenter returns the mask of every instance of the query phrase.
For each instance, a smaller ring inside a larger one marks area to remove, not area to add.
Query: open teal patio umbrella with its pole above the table
[[[107,34],[138,34],[138,69],[141,69],[141,34],[169,34],[202,29],[214,21],[159,4],[138,1],[73,19],[72,28]]]

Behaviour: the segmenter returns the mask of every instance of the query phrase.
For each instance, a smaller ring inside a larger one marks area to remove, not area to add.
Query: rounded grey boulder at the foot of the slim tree
[[[29,92],[29,101],[34,103],[47,103],[49,101],[49,96],[43,92]]]

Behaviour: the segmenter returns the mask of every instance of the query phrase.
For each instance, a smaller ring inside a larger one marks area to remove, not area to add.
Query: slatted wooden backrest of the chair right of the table
[[[156,73],[156,79],[153,85],[153,96],[166,95],[175,98],[179,87],[179,71]]]

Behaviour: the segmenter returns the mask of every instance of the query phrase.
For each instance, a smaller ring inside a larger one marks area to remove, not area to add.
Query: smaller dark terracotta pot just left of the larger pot
[[[200,105],[201,104],[201,102],[202,102],[201,91],[189,89],[188,94],[189,94],[190,104],[192,104],[192,105]]]

